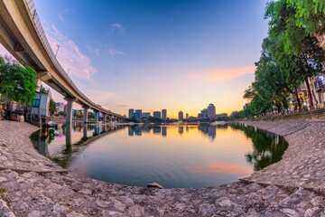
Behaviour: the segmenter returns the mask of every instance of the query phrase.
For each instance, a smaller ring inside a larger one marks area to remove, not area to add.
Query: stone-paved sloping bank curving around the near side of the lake
[[[235,183],[147,189],[66,172],[33,149],[38,127],[0,121],[0,216],[324,216],[325,122],[245,124],[284,136],[283,160]]]

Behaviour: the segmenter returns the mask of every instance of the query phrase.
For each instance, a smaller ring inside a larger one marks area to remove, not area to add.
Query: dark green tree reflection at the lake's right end
[[[247,154],[246,159],[254,165],[255,170],[261,170],[268,165],[280,161],[285,149],[288,147],[288,143],[283,137],[265,130],[242,124],[231,125],[231,127],[244,131],[246,137],[252,139],[254,151]]]

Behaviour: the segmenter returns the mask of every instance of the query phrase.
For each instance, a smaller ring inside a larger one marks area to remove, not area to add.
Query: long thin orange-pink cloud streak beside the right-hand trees
[[[214,71],[203,71],[190,73],[186,77],[190,79],[206,79],[208,81],[231,80],[246,74],[253,74],[255,66],[246,66],[233,69],[217,69]]]

